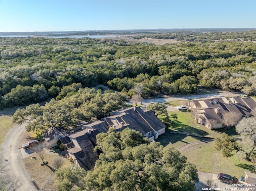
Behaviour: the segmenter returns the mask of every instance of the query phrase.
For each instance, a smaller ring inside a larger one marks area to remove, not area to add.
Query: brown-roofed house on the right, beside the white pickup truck
[[[211,99],[191,100],[189,108],[196,122],[210,129],[223,128],[223,113],[250,117],[256,111],[256,102],[251,97],[220,97]]]

